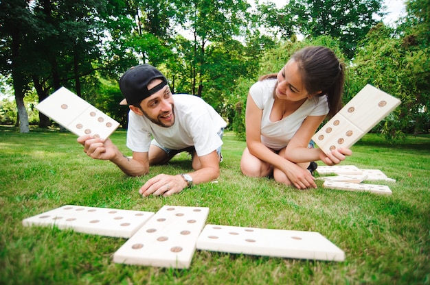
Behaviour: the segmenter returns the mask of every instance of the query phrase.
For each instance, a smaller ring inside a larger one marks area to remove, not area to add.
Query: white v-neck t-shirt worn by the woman
[[[263,111],[261,118],[261,142],[263,145],[279,151],[286,147],[307,116],[328,114],[327,96],[306,100],[293,114],[284,119],[271,122],[269,117],[273,108],[273,89],[277,79],[256,82],[249,89],[253,101]]]

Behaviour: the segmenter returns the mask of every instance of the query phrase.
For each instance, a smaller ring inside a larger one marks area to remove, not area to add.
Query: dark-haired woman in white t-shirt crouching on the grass
[[[326,155],[308,143],[326,116],[341,108],[345,67],[326,47],[297,51],[278,74],[265,75],[249,89],[245,115],[247,148],[240,170],[299,189],[316,188],[310,162],[338,164],[350,149]]]

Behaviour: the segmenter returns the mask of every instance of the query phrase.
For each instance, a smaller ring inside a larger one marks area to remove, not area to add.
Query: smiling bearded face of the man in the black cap
[[[148,89],[150,90],[160,83],[161,79],[155,79],[148,84]],[[174,101],[172,93],[170,92],[169,86],[166,85],[158,92],[140,102],[139,108],[133,107],[142,111],[143,115],[152,123],[160,125],[161,127],[171,127],[175,120],[173,106]],[[131,106],[131,108],[133,107]],[[133,112],[139,114],[137,110],[133,110]]]

